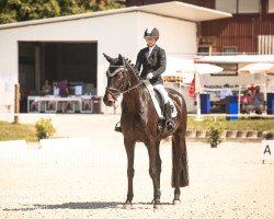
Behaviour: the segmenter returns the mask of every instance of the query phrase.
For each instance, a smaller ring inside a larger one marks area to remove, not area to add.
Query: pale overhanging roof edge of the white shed
[[[9,24],[0,25],[0,30],[14,28],[14,27],[20,27],[20,26],[28,26],[28,25],[38,25],[38,24],[45,24],[45,23],[72,21],[72,20],[80,20],[80,19],[89,19],[89,18],[94,18],[94,16],[104,16],[104,15],[128,13],[128,12],[146,12],[146,13],[152,13],[157,15],[186,20],[186,21],[192,21],[192,22],[217,20],[217,19],[225,19],[225,18],[231,16],[230,13],[226,13],[226,12],[221,12],[221,11],[217,11],[213,9],[207,9],[203,7],[197,7],[197,5],[193,5],[189,3],[183,3],[179,1],[171,1],[171,2],[164,2],[164,3],[147,4],[147,5],[141,5],[141,7],[128,7],[128,8],[122,8],[122,9],[107,10],[107,11],[98,11],[98,12],[90,12],[90,13],[82,13],[82,14],[75,14],[75,15],[67,15],[67,16],[9,23]]]

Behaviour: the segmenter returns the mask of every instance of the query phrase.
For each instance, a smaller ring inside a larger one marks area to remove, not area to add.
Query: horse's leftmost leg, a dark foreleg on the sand
[[[132,208],[132,201],[134,198],[134,191],[133,191],[133,178],[134,178],[134,149],[135,142],[124,140],[126,154],[127,154],[127,198],[123,206],[123,208]]]

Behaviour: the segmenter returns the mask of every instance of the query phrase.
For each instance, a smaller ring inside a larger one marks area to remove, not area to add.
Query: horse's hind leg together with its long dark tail
[[[175,132],[172,138],[172,186],[174,189],[173,204],[180,204],[180,186],[189,185],[187,154],[184,132]]]

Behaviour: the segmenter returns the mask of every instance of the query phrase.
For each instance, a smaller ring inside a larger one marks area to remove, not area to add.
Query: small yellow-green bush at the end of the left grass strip
[[[39,140],[52,137],[56,131],[50,118],[41,118],[38,122],[35,123],[35,128],[36,136]]]

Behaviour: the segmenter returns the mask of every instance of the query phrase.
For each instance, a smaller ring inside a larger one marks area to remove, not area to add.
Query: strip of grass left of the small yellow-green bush
[[[34,125],[0,122],[0,140],[38,141]]]

